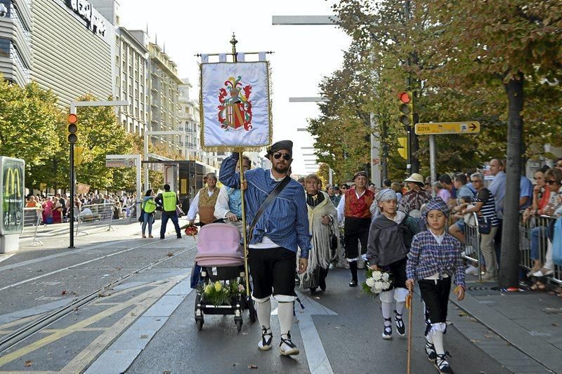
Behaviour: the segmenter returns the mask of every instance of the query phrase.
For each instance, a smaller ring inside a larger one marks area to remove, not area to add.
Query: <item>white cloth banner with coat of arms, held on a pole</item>
[[[200,106],[203,148],[270,145],[268,62],[202,64]]]

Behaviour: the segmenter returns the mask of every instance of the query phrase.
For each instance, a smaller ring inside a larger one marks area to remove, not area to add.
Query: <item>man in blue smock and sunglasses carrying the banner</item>
[[[261,324],[261,340],[258,348],[271,349],[273,335],[270,326],[271,295],[279,306],[277,316],[281,330],[280,354],[299,354],[291,340],[293,307],[296,294],[295,264],[297,247],[301,248],[299,274],[308,265],[311,237],[308,234],[308,213],[303,188],[296,180],[287,177],[292,163],[293,143],[290,140],[276,142],[268,149],[270,170],[257,168],[244,173],[246,186],[244,199],[246,218],[249,222],[259,214],[260,207],[272,192],[278,195],[257,218],[249,232],[249,267],[254,281],[252,298],[256,301],[258,320]],[[220,180],[224,185],[240,185],[240,173],[235,172],[240,155],[233,153],[221,165]],[[285,180],[285,178],[289,178]],[[283,189],[276,189],[282,183]]]

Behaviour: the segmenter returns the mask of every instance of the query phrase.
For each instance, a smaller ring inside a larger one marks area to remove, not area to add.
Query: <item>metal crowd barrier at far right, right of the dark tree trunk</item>
[[[549,234],[552,236],[554,232],[554,222],[556,218],[548,215],[540,215],[538,217],[530,217],[523,222],[523,214],[519,215],[519,253],[520,266],[523,269],[530,270],[533,267],[532,240],[533,237],[537,243],[536,257],[540,260],[540,265],[547,265],[547,268],[554,269],[552,278],[558,284],[562,285],[562,266],[554,265],[552,262],[552,242],[549,240]]]

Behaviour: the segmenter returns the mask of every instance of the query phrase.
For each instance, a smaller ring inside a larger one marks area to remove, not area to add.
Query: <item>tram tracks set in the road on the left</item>
[[[105,255],[103,257],[96,258],[96,259],[93,259],[93,260],[102,260],[103,258],[107,258],[107,257],[110,257],[112,255],[117,255],[119,253],[124,253],[124,252],[127,252],[127,251],[131,251],[133,249],[142,248],[142,247],[148,246],[148,245],[150,245],[150,244],[145,244],[145,245],[142,245],[142,246],[136,246],[136,247],[133,247],[133,248],[127,248],[124,251],[119,251],[119,252],[116,252],[116,253],[110,253],[109,255]],[[36,333],[39,333],[39,331],[48,327],[49,325],[51,325],[55,321],[58,321],[59,319],[62,319],[63,317],[69,315],[70,313],[74,312],[74,310],[76,310],[80,307],[84,307],[85,305],[88,305],[91,302],[93,302],[95,300],[98,300],[99,298],[103,297],[104,293],[107,290],[110,290],[110,289],[114,288],[115,286],[119,285],[120,283],[123,283],[130,276],[133,276],[135,274],[140,274],[141,272],[148,271],[152,267],[155,267],[156,265],[159,265],[162,262],[165,262],[165,261],[167,261],[171,258],[174,258],[174,256],[181,255],[182,253],[185,253],[185,252],[188,252],[188,251],[192,251],[192,249],[194,249],[194,248],[195,248],[195,245],[191,246],[190,248],[185,248],[181,251],[178,251],[178,252],[174,253],[173,256],[166,255],[166,257],[164,257],[164,258],[159,258],[158,260],[155,260],[148,265],[145,265],[145,266],[143,266],[139,269],[133,270],[133,272],[130,272],[129,274],[121,276],[119,279],[117,279],[115,281],[107,283],[107,285],[105,285],[101,288],[98,288],[97,290],[94,290],[93,292],[89,293],[88,295],[84,295],[83,297],[79,298],[78,300],[74,300],[74,301],[70,302],[68,305],[60,307],[53,312],[48,312],[47,314],[43,314],[43,315],[39,316],[37,319],[34,319],[33,321],[31,321],[29,323],[26,323],[24,326],[12,331],[11,333],[9,333],[6,336],[0,338],[0,356],[4,352],[6,352],[6,350],[10,349],[11,347],[14,347],[15,345],[18,345],[18,343],[22,342],[23,340],[25,340],[27,338],[30,338],[30,336],[32,336]],[[27,279],[26,281],[20,281],[18,283],[13,283],[12,285],[6,286],[4,288],[0,288],[0,290],[11,288],[13,286],[17,286],[17,285],[22,284],[22,283],[27,283],[28,281],[33,281],[35,279],[42,278],[43,276],[56,274],[58,272],[61,272],[61,271],[67,270],[67,269],[72,269],[72,268],[78,267],[80,265],[85,265],[85,264],[88,264],[90,262],[93,262],[93,260],[81,262],[80,264],[72,265],[71,267],[65,267],[64,269],[60,269],[60,270],[55,271],[55,272],[50,272],[50,273],[44,274],[42,276],[37,276],[37,277],[34,277],[32,279]]]

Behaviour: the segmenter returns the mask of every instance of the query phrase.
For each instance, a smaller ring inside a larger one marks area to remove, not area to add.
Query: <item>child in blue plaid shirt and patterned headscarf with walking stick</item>
[[[449,352],[443,348],[443,333],[447,329],[452,276],[455,276],[455,294],[459,301],[464,299],[465,289],[461,244],[445,232],[448,213],[447,204],[440,197],[427,204],[423,218],[429,230],[414,236],[406,264],[406,286],[412,290],[417,281],[426,305],[427,357],[439,373],[447,374],[452,373],[452,369],[446,357]]]

